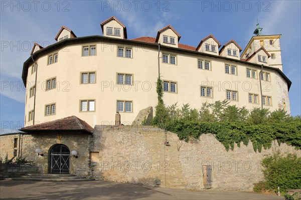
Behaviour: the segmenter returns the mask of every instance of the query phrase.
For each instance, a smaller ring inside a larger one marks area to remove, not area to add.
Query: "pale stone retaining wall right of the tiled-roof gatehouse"
[[[260,160],[275,150],[300,150],[287,144],[278,146],[274,141],[270,149],[255,152],[252,143],[235,145],[226,151],[213,134],[199,139],[180,141],[175,133],[157,128],[110,128],[95,126],[94,149],[99,160],[93,166],[93,175],[107,181],[155,185],[161,187],[201,190],[204,186],[203,165],[212,166],[212,189],[252,190],[253,183],[262,180]]]

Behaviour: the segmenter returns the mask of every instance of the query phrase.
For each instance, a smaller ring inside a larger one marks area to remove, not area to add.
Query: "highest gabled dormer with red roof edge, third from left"
[[[127,39],[126,27],[115,16],[100,23],[103,36]]]

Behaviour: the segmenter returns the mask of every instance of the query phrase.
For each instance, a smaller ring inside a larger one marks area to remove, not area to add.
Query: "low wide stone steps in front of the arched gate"
[[[1,180],[32,180],[32,181],[87,181],[95,180],[94,178],[86,178],[84,176],[76,176],[72,174],[24,174],[11,175],[10,177],[1,177]]]

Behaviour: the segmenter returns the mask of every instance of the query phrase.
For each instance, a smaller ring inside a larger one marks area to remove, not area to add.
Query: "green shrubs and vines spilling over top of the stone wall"
[[[166,130],[177,133],[186,141],[212,133],[227,150],[233,150],[235,143],[240,147],[241,142],[248,145],[252,141],[254,151],[261,152],[262,147],[270,148],[273,140],[277,140],[279,145],[285,142],[296,149],[301,148],[301,117],[291,117],[285,110],[248,110],[229,106],[227,101],[205,103],[200,110],[191,109],[189,104],[181,108],[176,104],[162,106],[160,110],[165,110],[162,121]]]

